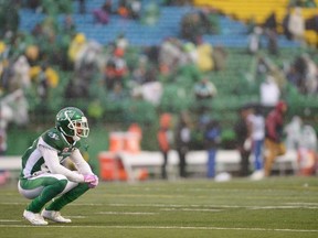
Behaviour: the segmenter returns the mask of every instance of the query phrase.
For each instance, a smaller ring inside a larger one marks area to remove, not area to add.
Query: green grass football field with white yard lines
[[[102,182],[65,207],[67,225],[31,226],[14,184],[0,187],[0,237],[318,237],[318,177]]]

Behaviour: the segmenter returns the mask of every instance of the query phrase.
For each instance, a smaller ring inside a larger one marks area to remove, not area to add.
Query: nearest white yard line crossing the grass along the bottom
[[[268,228],[245,228],[245,227],[184,227],[184,226],[76,226],[76,225],[54,225],[54,226],[32,226],[32,225],[1,225],[7,228],[98,228],[98,229],[189,229],[189,230],[247,230],[247,231],[275,231],[275,232],[318,232],[312,229],[268,229]]]

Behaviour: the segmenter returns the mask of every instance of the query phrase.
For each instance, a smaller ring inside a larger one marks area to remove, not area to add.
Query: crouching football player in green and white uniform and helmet
[[[22,171],[18,188],[32,199],[23,217],[33,225],[47,225],[45,219],[71,223],[60,210],[98,184],[98,177],[80,153],[81,138],[89,128],[84,113],[75,107],[62,109],[55,127],[34,140],[22,155]],[[76,171],[62,165],[70,158]],[[45,219],[44,219],[45,218]]]

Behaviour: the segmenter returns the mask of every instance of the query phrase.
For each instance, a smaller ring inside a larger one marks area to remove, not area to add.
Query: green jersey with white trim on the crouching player
[[[20,177],[30,177],[32,174],[41,171],[49,172],[45,161],[39,150],[39,145],[46,147],[57,152],[60,163],[70,156],[74,149],[81,148],[80,141],[74,141],[73,144],[68,143],[66,138],[56,129],[51,128],[39,138],[36,138],[32,145],[26,149],[22,155],[22,171]]]

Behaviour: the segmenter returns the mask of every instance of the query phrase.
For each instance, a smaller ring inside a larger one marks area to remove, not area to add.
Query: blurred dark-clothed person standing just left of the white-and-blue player
[[[240,108],[239,120],[234,125],[236,150],[240,152],[240,176],[250,174],[250,155],[252,150],[251,127],[248,127],[247,117],[251,113],[248,105]]]

